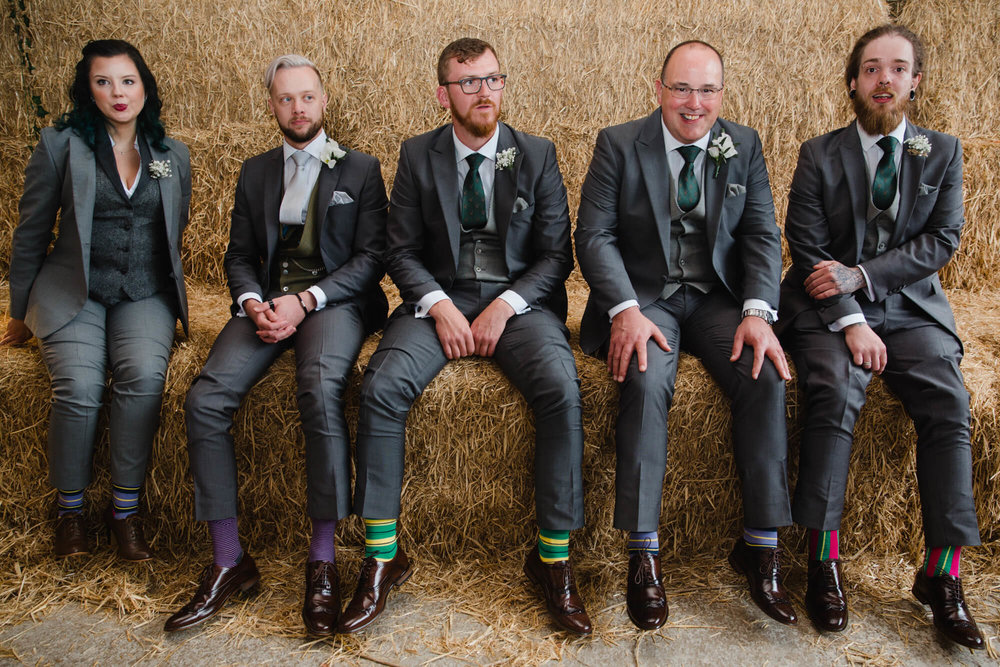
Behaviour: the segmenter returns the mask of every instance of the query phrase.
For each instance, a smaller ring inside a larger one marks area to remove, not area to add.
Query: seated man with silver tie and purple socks
[[[213,562],[167,631],[211,618],[260,579],[237,532],[230,431],[243,397],[290,348],[313,529],[302,618],[311,634],[329,635],[340,614],[334,531],[351,509],[343,395],[365,335],[388,310],[379,287],[388,201],[378,160],[324,132],[327,97],[312,62],[281,56],[264,82],[285,138],[243,163],[224,261],[233,317],[185,402],[195,518],[208,522]]]

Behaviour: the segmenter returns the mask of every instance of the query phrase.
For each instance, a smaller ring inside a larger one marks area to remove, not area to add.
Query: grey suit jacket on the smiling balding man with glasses
[[[608,311],[635,299],[655,301],[670,259],[670,172],[660,110],[597,135],[580,196],[576,254],[590,285],[580,346],[594,354],[610,333]],[[734,299],[778,302],[781,232],[760,137],[718,120],[712,135],[732,136],[738,154],[718,175],[706,156],[706,235],[715,275]]]

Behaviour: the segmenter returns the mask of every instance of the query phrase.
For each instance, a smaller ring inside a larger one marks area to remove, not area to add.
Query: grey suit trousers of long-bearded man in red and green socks
[[[882,379],[916,427],[926,544],[977,545],[961,346],[901,294],[862,308],[888,351]],[[815,311],[799,314],[787,336],[806,405],[793,514],[807,528],[838,530],[854,424],[872,373],[854,363],[844,334],[830,332]]]

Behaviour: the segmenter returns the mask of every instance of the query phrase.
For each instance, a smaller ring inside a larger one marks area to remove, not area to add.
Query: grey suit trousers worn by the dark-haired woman
[[[90,483],[108,369],[111,480],[142,485],[160,425],[176,303],[164,294],[111,308],[88,299],[72,320],[39,341],[52,380],[48,458],[55,488],[72,491]]]

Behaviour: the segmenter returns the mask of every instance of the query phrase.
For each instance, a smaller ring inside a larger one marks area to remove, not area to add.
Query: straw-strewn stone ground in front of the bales
[[[707,600],[697,591],[672,595],[667,626],[657,632],[638,633],[630,631],[623,599],[616,596],[605,608],[591,609],[595,626],[599,631],[604,628],[596,638],[564,640],[554,632],[546,635],[539,630],[528,633],[523,654],[512,654],[508,647],[502,655],[490,650],[490,646],[497,646],[492,640],[500,630],[445,603],[420,601],[406,593],[405,587],[393,595],[386,616],[360,643],[354,638],[256,638],[232,627],[232,616],[227,621],[225,614],[204,629],[166,635],[162,631],[165,615],[135,624],[116,613],[65,603],[45,610],[35,620],[0,628],[0,664],[465,665],[545,664],[555,660],[637,666],[997,663],[1000,640],[996,619],[990,613],[985,614],[989,622],[980,617],[980,625],[991,648],[973,653],[940,638],[930,624],[929,612],[908,592],[901,591],[897,602],[878,608],[852,601],[851,624],[841,635],[820,635],[806,619],[797,627],[782,626],[764,617],[746,595],[728,597]],[[801,609],[801,599],[797,603]],[[976,609],[973,601],[973,611]]]

